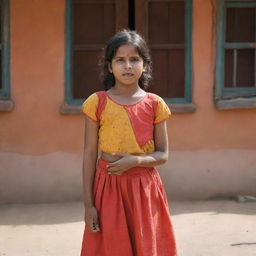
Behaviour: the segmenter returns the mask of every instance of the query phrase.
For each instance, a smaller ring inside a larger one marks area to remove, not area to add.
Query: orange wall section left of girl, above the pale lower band
[[[11,97],[1,113],[2,151],[40,155],[82,150],[83,120],[61,115],[64,100],[64,0],[10,1]]]

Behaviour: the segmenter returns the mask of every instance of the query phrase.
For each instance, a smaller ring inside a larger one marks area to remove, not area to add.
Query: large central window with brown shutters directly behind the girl
[[[102,90],[97,62],[118,30],[135,29],[153,59],[151,91],[191,102],[192,0],[66,0],[66,103],[81,105]]]

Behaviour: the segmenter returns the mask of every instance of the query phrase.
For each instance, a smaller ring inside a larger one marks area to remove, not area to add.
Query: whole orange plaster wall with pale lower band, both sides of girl
[[[12,112],[0,113],[0,202],[81,199],[84,122],[61,115],[64,0],[11,2]],[[170,159],[159,168],[178,199],[256,194],[256,110],[213,103],[215,5],[193,1],[193,114],[168,121]]]

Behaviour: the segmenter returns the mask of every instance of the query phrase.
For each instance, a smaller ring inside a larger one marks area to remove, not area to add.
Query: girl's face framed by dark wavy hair
[[[113,73],[116,85],[138,85],[144,71],[143,59],[133,45],[122,45],[117,49],[109,71]]]

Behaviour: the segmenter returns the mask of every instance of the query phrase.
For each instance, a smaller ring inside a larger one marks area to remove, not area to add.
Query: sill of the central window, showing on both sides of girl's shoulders
[[[168,104],[172,113],[193,113],[196,110],[196,105],[193,103],[187,104]],[[68,105],[66,103],[62,104],[59,109],[61,114],[81,114],[81,105]]]

